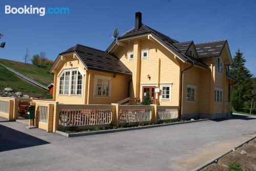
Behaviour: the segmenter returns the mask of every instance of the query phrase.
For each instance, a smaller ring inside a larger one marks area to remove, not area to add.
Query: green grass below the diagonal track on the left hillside
[[[6,70],[4,67],[0,66],[0,89],[7,87],[12,88],[15,91],[22,91],[23,94],[28,94],[38,98],[51,97],[48,91],[40,89],[29,84],[28,82],[21,80],[11,71]]]

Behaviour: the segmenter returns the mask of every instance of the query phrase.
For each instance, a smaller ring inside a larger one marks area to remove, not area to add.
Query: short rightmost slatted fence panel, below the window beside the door
[[[177,119],[178,106],[157,106],[157,119]]]

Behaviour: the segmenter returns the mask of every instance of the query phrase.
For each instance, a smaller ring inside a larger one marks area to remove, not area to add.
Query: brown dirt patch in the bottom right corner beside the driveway
[[[241,154],[242,151],[245,151],[246,154]],[[229,152],[220,158],[217,163],[210,164],[201,170],[226,171],[229,170],[231,165],[239,165],[242,170],[246,171],[256,170],[256,138],[243,144],[235,151]]]

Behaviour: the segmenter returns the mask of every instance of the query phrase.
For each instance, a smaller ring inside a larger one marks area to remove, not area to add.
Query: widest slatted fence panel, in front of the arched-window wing
[[[110,124],[112,105],[62,105],[59,124],[62,126],[86,126]]]

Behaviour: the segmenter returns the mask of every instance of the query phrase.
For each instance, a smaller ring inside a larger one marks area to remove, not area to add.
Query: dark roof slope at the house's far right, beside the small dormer
[[[209,41],[195,44],[199,58],[220,56],[227,40]]]

